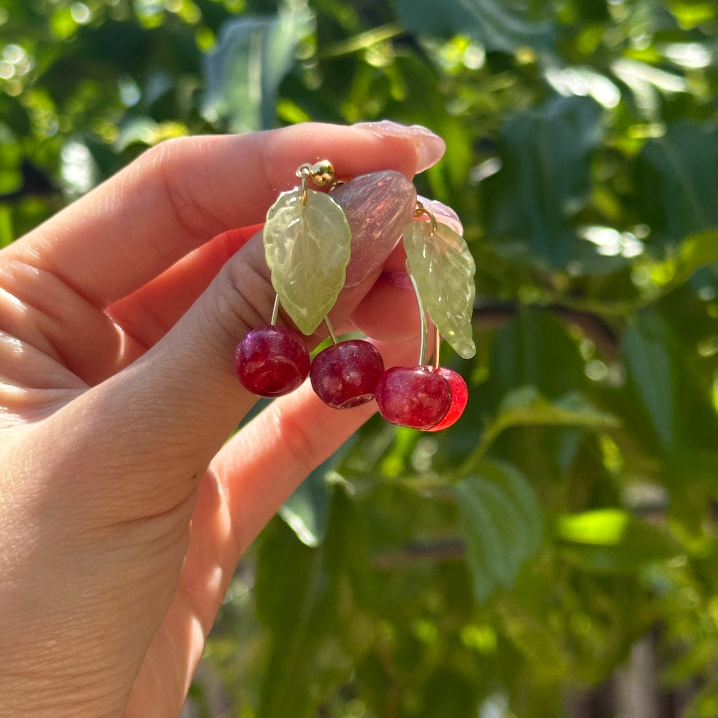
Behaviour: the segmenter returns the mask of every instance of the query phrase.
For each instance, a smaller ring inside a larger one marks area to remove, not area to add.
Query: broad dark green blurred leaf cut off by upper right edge
[[[651,243],[676,246],[718,227],[718,131],[676,122],[648,140],[635,162],[636,201]]]

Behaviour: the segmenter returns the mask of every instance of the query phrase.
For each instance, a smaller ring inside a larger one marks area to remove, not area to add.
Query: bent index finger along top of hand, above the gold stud
[[[277,194],[297,184],[299,164],[324,157],[340,177],[376,169],[411,177],[416,139],[306,123],[170,140],[6,251],[103,308],[213,236],[261,222]]]

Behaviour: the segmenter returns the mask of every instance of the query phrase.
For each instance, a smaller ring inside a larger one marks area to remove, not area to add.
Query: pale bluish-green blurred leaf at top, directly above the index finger
[[[274,127],[279,84],[312,23],[312,13],[302,6],[274,16],[228,19],[205,60],[205,119],[225,122],[232,132]]]

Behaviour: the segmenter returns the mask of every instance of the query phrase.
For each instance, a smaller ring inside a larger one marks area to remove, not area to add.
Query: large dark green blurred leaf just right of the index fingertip
[[[554,96],[504,124],[503,167],[482,183],[486,236],[501,253],[543,269],[566,266],[576,241],[572,219],[592,188],[600,120],[595,101]]]

